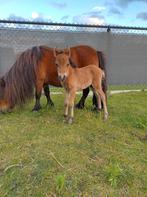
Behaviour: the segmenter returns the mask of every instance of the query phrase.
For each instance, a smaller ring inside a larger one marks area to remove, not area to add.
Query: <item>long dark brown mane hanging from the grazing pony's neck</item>
[[[11,107],[22,105],[33,96],[36,68],[41,59],[40,47],[33,47],[20,54],[5,75],[5,97]]]

